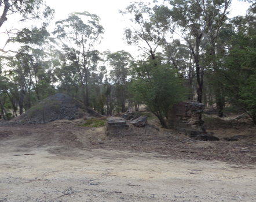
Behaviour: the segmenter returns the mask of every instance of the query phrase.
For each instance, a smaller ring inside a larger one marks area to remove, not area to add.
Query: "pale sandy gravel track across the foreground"
[[[67,144],[75,129],[54,126],[0,127],[0,201],[256,201],[255,164],[93,148],[80,128]]]

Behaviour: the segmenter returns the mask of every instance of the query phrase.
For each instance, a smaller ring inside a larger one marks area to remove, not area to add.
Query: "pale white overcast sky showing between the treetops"
[[[130,5],[131,0],[45,0],[50,8],[55,9],[55,18],[49,25],[49,31],[54,30],[55,22],[64,20],[68,14],[72,12],[87,11],[92,14],[97,14],[101,18],[100,24],[105,29],[104,39],[96,48],[100,52],[110,50],[112,53],[119,50],[128,51],[133,57],[138,55],[137,47],[128,46],[123,40],[124,29],[129,27],[129,20],[125,19],[119,10],[125,10]],[[144,2],[152,2],[142,0]],[[159,4],[163,0],[158,1]],[[248,8],[248,4],[242,1],[233,0],[232,12],[230,17],[244,15]],[[8,22],[9,23],[9,22]],[[15,26],[15,25],[14,25]],[[2,48],[3,38],[0,36],[0,46]]]

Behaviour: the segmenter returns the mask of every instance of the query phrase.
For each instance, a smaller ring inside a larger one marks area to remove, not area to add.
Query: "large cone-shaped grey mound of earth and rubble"
[[[9,122],[17,124],[46,124],[57,120],[74,120],[83,117],[101,117],[96,111],[68,95],[57,93],[42,100],[24,114]]]

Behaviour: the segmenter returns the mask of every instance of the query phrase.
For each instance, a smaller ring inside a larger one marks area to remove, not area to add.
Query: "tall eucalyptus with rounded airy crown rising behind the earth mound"
[[[89,71],[96,68],[99,59],[99,53],[94,46],[100,43],[104,33],[99,21],[100,17],[96,14],[71,13],[67,19],[56,22],[53,32],[61,44],[68,65],[76,68],[85,106],[89,106]]]

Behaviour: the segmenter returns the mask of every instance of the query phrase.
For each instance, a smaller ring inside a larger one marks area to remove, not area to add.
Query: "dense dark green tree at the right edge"
[[[225,33],[224,57],[218,72],[229,108],[242,111],[256,124],[256,3],[246,16],[232,18]]]

